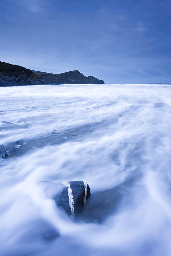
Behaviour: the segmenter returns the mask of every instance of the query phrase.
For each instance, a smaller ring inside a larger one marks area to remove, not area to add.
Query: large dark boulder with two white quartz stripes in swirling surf
[[[55,201],[73,219],[83,211],[86,200],[90,197],[90,187],[83,181],[64,182],[63,185],[65,188]]]

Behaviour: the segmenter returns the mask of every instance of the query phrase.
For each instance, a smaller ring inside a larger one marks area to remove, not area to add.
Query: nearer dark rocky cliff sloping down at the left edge
[[[0,86],[49,84],[30,69],[0,61]]]

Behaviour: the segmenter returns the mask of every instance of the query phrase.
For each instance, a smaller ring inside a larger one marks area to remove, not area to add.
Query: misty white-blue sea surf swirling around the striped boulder
[[[2,256],[171,255],[171,85],[0,94]],[[91,197],[72,220],[55,198],[74,180]]]

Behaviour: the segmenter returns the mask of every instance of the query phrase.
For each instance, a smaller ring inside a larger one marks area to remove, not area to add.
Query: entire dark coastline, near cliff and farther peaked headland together
[[[22,66],[0,61],[0,86],[20,86],[36,84],[101,84],[93,76],[84,76],[78,70],[61,74],[30,70]]]

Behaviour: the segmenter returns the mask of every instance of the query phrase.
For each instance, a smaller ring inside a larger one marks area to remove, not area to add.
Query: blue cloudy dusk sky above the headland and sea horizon
[[[0,60],[105,83],[171,83],[170,0],[1,0]]]

